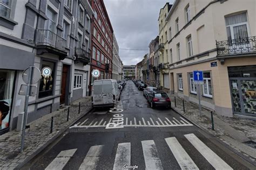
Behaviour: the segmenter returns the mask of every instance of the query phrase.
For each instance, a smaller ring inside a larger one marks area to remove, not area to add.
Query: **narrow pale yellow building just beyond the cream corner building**
[[[169,58],[168,58],[168,24],[165,20],[168,12],[171,9],[169,3],[166,3],[163,8],[160,9],[158,24],[159,24],[159,65],[158,68],[160,70],[160,86],[163,87],[163,90],[169,91]]]

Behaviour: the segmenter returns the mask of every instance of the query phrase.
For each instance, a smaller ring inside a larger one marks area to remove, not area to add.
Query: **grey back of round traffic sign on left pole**
[[[31,77],[29,77],[30,71],[31,71]],[[22,73],[22,79],[26,84],[29,84],[30,79],[31,79],[30,84],[36,84],[40,80],[40,78],[41,78],[41,72],[39,68],[35,66],[26,68]]]

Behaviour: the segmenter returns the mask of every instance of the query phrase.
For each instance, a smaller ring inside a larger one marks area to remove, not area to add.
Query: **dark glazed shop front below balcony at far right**
[[[234,114],[256,117],[256,65],[228,67]]]

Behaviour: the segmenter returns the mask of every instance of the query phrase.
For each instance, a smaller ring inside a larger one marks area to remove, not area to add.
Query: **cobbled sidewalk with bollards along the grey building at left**
[[[80,114],[78,105],[80,102]],[[21,132],[10,131],[0,136],[0,169],[14,169],[41,152],[48,144],[62,134],[69,126],[91,110],[91,97],[84,97],[70,105],[69,121],[68,108],[60,109],[31,122],[26,129],[24,151],[21,147]],[[51,117],[53,116],[53,131],[50,133]]]

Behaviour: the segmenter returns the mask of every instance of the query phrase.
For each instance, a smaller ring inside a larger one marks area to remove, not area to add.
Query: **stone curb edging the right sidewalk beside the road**
[[[253,162],[250,158],[247,158],[244,154],[238,152],[237,150],[235,150],[234,148],[230,147],[229,145],[225,144],[222,140],[220,140],[218,137],[214,136],[214,134],[209,133],[208,131],[206,131],[203,127],[201,127],[200,125],[198,125],[197,123],[195,123],[194,121],[191,121],[189,118],[187,118],[187,116],[181,114],[180,111],[178,111],[176,108],[172,107],[172,110],[174,110],[175,112],[177,112],[177,114],[179,114],[180,116],[184,117],[185,119],[187,119],[187,121],[190,121],[193,125],[197,126],[197,128],[199,128],[200,130],[202,130],[204,133],[208,134],[209,136],[214,137],[214,139],[220,144],[223,145],[224,147],[228,148],[228,150],[234,152],[235,154],[237,154],[239,157],[241,157],[242,159],[246,160],[247,162],[249,162],[250,164],[256,166],[256,162]]]

